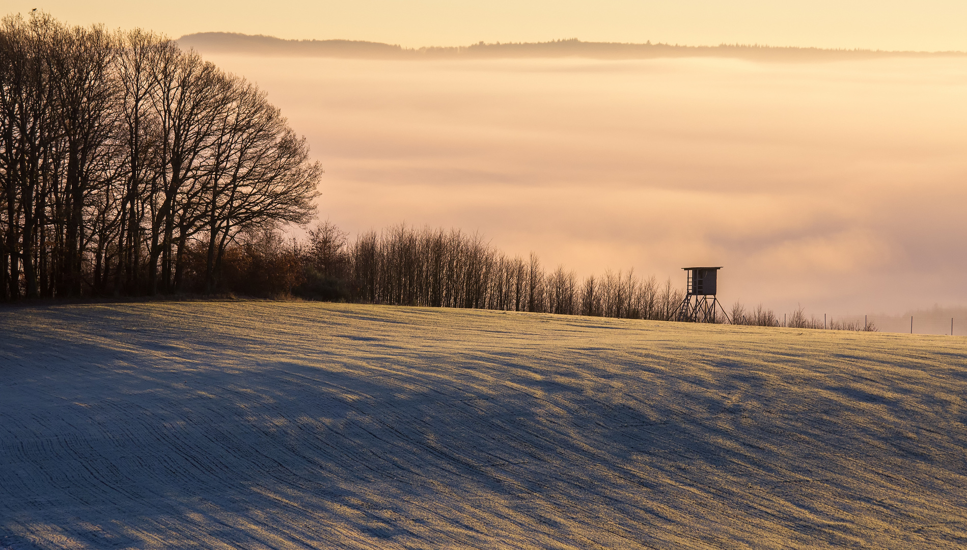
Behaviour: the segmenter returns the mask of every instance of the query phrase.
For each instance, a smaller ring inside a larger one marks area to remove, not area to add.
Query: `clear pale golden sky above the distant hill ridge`
[[[484,42],[760,43],[967,50],[963,0],[4,0],[70,23],[405,46]]]

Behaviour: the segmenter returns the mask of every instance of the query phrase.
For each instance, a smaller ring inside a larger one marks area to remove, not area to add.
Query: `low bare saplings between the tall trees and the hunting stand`
[[[533,252],[509,256],[458,229],[399,224],[349,243],[325,222],[290,247],[304,265],[293,293],[307,298],[665,321],[684,298],[670,280],[633,270],[583,279],[564,266],[547,270]]]

